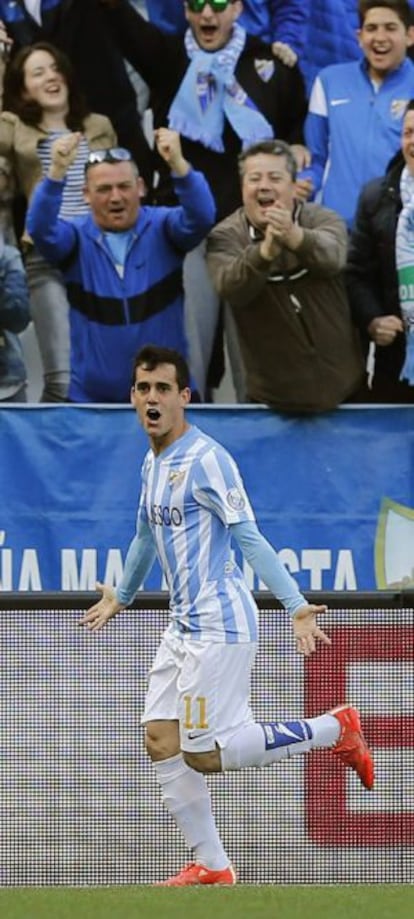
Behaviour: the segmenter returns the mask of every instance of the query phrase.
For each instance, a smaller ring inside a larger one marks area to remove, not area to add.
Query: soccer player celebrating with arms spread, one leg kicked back
[[[170,624],[149,677],[143,715],[146,747],[163,801],[194,861],[163,883],[171,887],[236,883],[213,817],[203,773],[267,766],[330,747],[374,783],[359,714],[350,705],[306,720],[256,722],[249,704],[257,645],[257,607],[231,555],[231,537],[292,617],[299,653],[316,641],[325,606],[308,604],[265,540],[229,453],[190,425],[189,372],[180,354],[147,346],[135,359],[131,401],[151,449],[143,463],[137,532],[116,591],[81,619],[91,631],[132,602],[155,555],[170,592]]]

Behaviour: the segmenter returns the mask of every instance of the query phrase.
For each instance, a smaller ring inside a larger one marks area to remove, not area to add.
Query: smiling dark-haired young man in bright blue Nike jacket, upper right
[[[414,97],[409,24],[405,0],[366,0],[363,59],[324,68],[313,86],[305,137],[314,188],[349,227],[362,186],[383,175],[400,146],[405,108]]]

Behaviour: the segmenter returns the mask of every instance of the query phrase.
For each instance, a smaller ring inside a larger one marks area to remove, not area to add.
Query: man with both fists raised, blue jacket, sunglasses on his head
[[[178,134],[156,132],[172,170],[178,207],[141,206],[142,179],[128,151],[93,151],[86,165],[91,213],[59,219],[65,175],[80,134],[52,148],[48,177],[32,197],[27,229],[65,275],[71,306],[72,402],[127,402],[131,367],[145,344],[187,353],[183,322],[184,254],[206,236],[215,205],[204,176],[181,152]]]

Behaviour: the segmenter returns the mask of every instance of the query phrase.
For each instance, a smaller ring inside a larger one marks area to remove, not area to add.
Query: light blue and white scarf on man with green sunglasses
[[[169,127],[217,153],[224,150],[225,118],[243,147],[274,137],[273,128],[234,75],[245,42],[246,31],[238,23],[218,51],[203,51],[191,29],[185,33],[190,64],[168,112]]]

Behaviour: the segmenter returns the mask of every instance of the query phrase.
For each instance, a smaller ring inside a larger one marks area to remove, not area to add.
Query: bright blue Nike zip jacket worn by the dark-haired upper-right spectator
[[[305,123],[314,187],[325,207],[352,227],[366,182],[383,175],[401,143],[414,65],[405,58],[379,86],[366,61],[325,67],[315,80]]]

